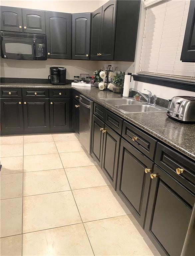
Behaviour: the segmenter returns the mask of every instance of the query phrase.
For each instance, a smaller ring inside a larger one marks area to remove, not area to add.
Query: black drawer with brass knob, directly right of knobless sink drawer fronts
[[[154,158],[154,151],[157,141],[151,138],[149,135],[135,128],[131,124],[123,122],[122,137],[150,159]]]

